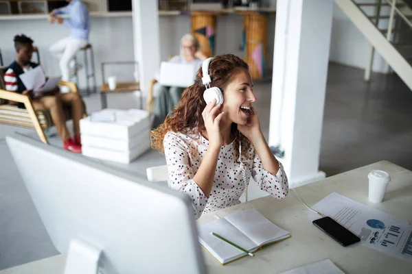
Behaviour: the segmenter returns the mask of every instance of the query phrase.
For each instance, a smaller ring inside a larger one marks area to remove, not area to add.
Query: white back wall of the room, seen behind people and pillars
[[[366,1],[366,0],[365,0]],[[369,0],[374,1],[374,0]],[[275,0],[270,1],[271,5]],[[100,64],[112,60],[133,60],[133,31],[132,18],[124,17],[98,17],[91,19],[91,43],[95,48],[95,64],[98,85],[102,82]],[[190,16],[160,16],[160,42],[161,60],[168,60],[170,55],[179,53],[179,40],[183,34],[190,32]],[[218,16],[216,21],[216,53],[234,53],[242,55],[239,47],[242,43],[242,16],[231,14]],[[31,36],[41,52],[41,60],[46,73],[50,76],[59,74],[58,61],[48,53],[52,42],[64,38],[69,30],[64,26],[50,25],[45,18],[0,21],[1,39],[0,49],[3,52],[3,60],[6,64],[14,59],[12,45],[13,36],[24,33]],[[314,31],[316,31],[314,29]],[[273,45],[275,35],[275,16],[269,16],[268,20],[268,66],[273,64]],[[354,24],[334,5],[334,18],[332,25],[332,39],[330,47],[330,61],[339,62],[349,66],[365,68],[369,55],[369,42]],[[82,60],[82,55],[79,55]],[[388,66],[376,53],[374,71],[387,73]],[[80,86],[84,86],[84,72],[80,73]],[[133,79],[133,67],[122,66],[107,75],[115,74],[120,79]]]

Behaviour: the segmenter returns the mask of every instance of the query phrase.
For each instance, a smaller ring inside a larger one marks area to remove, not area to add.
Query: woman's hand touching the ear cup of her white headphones
[[[221,105],[216,105],[216,99],[206,105],[202,112],[203,121],[207,131],[207,138],[209,139],[209,147],[220,149],[223,145],[223,137],[220,132],[220,120],[225,112],[219,113]]]

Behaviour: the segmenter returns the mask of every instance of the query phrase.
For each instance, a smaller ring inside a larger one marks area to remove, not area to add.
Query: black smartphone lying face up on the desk
[[[323,217],[322,219],[314,220],[312,223],[344,247],[361,241],[361,238],[347,230],[343,227],[343,225],[340,225],[330,217]]]

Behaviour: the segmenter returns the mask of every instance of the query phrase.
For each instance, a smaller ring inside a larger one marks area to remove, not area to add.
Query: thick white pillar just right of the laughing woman
[[[333,1],[277,0],[269,145],[280,145],[290,187],[319,171]],[[339,157],[336,155],[336,157]]]

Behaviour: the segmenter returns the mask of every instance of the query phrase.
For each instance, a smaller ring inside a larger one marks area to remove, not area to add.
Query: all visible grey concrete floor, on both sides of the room
[[[263,132],[267,138],[270,83],[255,84]],[[109,108],[131,108],[126,95],[108,98]],[[100,97],[85,98],[88,112],[100,108]],[[363,71],[330,64],[323,119],[320,170],[330,176],[379,160],[389,160],[412,170],[412,92],[396,75],[374,74],[370,84]],[[5,145],[5,136],[31,129],[0,125],[0,270],[40,260],[58,252],[25,190]],[[52,145],[61,146],[58,138]],[[125,172],[146,176],[146,167],[164,164],[157,151],[148,151]],[[104,164],[104,162],[102,162]]]

